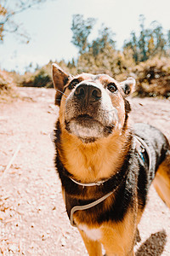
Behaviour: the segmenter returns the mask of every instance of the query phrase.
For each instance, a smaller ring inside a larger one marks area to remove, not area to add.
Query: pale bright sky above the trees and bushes
[[[116,49],[121,49],[130,32],[139,31],[139,15],[144,15],[146,27],[157,20],[165,32],[169,30],[169,10],[169,0],[47,0],[14,17],[31,41],[23,44],[8,34],[0,44],[0,68],[24,73],[30,63],[41,67],[50,60],[77,59],[77,48],[71,43],[72,15],[97,19],[91,39],[97,37],[102,23],[111,27],[116,33]]]

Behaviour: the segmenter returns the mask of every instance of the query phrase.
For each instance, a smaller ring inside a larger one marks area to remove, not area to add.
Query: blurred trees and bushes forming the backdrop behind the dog
[[[72,43],[79,49],[77,60],[56,63],[66,73],[107,73],[118,81],[133,76],[137,81],[136,95],[170,97],[170,30],[163,34],[157,21],[150,28],[144,26],[144,16],[140,16],[139,36],[131,32],[123,50],[116,49],[115,34],[102,25],[97,38],[88,42],[88,36],[95,20],[83,20],[82,15],[74,15],[71,30]],[[52,61],[36,69],[35,73],[26,72],[18,79],[21,86],[53,87],[51,76]],[[29,70],[29,69],[28,69]]]

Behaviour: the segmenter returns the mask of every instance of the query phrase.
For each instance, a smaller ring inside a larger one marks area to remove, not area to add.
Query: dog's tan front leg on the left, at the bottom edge
[[[89,239],[88,236],[84,233],[84,231],[79,230],[79,232],[88,250],[89,256],[102,256],[101,243],[99,241]]]

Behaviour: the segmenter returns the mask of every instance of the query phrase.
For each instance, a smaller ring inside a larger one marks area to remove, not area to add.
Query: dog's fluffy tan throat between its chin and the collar
[[[77,181],[93,183],[107,179],[122,166],[122,155],[126,155],[130,144],[128,135],[129,131],[125,131],[123,136],[120,136],[120,131],[116,131],[110,137],[94,143],[82,143],[63,130],[60,134],[62,150],[59,157]],[[125,152],[122,154],[122,151]]]

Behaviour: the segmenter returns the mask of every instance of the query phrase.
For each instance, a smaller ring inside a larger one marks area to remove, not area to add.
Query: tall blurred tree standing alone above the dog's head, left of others
[[[71,31],[73,32],[71,43],[77,46],[82,55],[88,50],[88,36],[92,31],[96,20],[88,18],[83,20],[83,15],[73,15]]]

